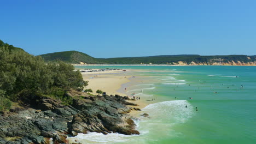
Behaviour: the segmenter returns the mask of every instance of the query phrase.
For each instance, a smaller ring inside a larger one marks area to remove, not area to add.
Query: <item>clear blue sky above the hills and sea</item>
[[[32,55],[256,55],[255,0],[0,2],[0,39]]]

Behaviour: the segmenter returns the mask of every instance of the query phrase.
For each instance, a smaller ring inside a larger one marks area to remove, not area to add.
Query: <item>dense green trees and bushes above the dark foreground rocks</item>
[[[0,40],[0,111],[8,110],[11,101],[29,100],[32,95],[59,99],[72,103],[65,94],[71,88],[88,85],[80,71],[65,62],[45,63],[24,50]]]

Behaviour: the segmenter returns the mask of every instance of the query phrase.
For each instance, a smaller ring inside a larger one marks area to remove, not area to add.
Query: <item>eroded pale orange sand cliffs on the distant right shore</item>
[[[177,63],[173,63],[175,65],[240,65],[240,66],[256,66],[256,61],[255,62],[240,62],[240,61],[237,61],[237,62],[234,62],[234,61],[228,61],[228,62],[223,62],[223,61],[219,61],[219,62],[190,62],[190,63],[187,63],[187,62],[183,62],[183,61],[179,61]]]

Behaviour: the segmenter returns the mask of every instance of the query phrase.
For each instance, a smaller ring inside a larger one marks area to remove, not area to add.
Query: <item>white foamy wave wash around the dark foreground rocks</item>
[[[185,107],[187,105],[187,108]],[[117,143],[117,142],[137,142],[141,141],[148,133],[155,133],[157,129],[168,129],[174,124],[185,123],[193,116],[193,106],[187,100],[164,101],[161,103],[150,104],[142,109],[142,113],[148,113],[150,118],[141,117],[133,119],[140,135],[123,135],[118,133],[110,133],[103,135],[102,133],[78,134],[75,137],[68,137],[69,142],[77,140],[81,143]],[[168,123],[162,123],[163,120]],[[142,126],[140,126],[142,125]],[[164,131],[159,131],[163,135],[170,135]],[[172,135],[176,135],[172,133]],[[143,141],[142,141],[143,142]]]

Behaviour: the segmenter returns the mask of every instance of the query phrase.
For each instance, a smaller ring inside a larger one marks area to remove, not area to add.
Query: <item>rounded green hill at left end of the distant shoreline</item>
[[[63,51],[40,55],[45,61],[63,61],[67,63],[101,63],[100,59],[78,51]]]

